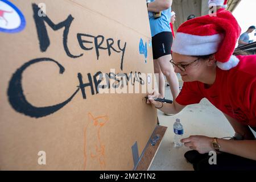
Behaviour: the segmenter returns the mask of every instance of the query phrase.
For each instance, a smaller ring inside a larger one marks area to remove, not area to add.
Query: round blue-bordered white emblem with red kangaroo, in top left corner
[[[11,2],[0,0],[0,32],[16,33],[26,27],[22,12]]]

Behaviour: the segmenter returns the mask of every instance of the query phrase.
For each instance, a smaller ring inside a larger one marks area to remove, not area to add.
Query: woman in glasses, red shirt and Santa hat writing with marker
[[[178,28],[172,44],[171,63],[180,73],[184,85],[173,104],[154,101],[158,93],[148,96],[164,113],[177,114],[185,106],[207,98],[232,125],[240,140],[191,136],[181,142],[191,148],[185,158],[195,170],[256,169],[256,56],[234,56],[241,28],[225,9],[217,16],[191,19]],[[236,138],[238,139],[238,138]],[[208,162],[210,151],[217,155],[217,165]]]

